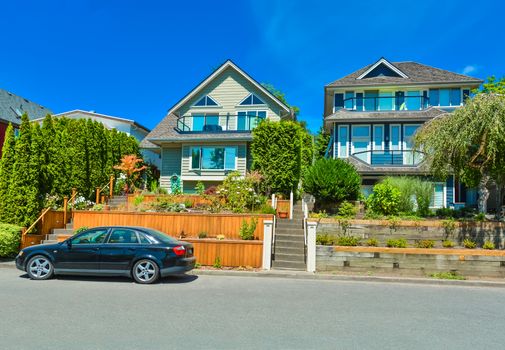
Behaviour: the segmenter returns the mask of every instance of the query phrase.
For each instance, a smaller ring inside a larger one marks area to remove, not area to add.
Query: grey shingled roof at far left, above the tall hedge
[[[30,119],[43,118],[52,114],[50,109],[24,97],[0,89],[0,119],[14,125],[21,124],[21,115],[28,114]]]

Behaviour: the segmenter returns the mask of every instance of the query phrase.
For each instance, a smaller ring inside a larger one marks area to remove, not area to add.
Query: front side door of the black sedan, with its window
[[[54,267],[60,272],[92,273],[100,268],[100,249],[108,230],[105,228],[89,230],[63,243],[55,253]]]

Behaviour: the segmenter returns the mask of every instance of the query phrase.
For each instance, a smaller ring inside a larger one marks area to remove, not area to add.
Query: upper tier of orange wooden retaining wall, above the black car
[[[272,220],[268,214],[202,214],[202,213],[146,213],[121,211],[75,211],[74,229],[97,226],[143,226],[164,232],[172,237],[196,238],[200,233],[207,237],[224,235],[226,239],[240,239],[239,230],[245,221],[257,219],[254,237],[263,240],[265,220]]]

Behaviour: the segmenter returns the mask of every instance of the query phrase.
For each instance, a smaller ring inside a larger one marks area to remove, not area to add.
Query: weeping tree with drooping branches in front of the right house
[[[478,186],[479,211],[487,211],[487,188],[494,180],[502,192],[505,172],[505,96],[478,94],[466,105],[426,123],[415,146],[427,152],[432,173],[456,174],[470,187]],[[500,195],[501,196],[501,195]]]

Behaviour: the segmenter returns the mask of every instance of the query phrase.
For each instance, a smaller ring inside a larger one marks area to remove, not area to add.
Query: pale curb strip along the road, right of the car
[[[496,287],[505,288],[505,282],[479,280],[442,280],[412,277],[383,277],[383,276],[347,276],[318,274],[304,271],[236,271],[236,270],[192,270],[188,274],[196,276],[230,276],[230,277],[270,277],[292,278],[305,280],[348,281],[348,282],[377,282],[377,283],[407,283],[441,286],[464,287]]]

